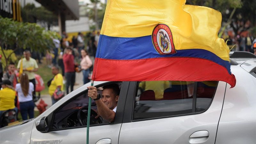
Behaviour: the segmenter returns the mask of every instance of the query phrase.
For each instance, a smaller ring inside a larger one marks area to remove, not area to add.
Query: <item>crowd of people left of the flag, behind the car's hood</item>
[[[91,59],[95,58],[99,35],[99,32],[97,35],[92,32],[88,36],[78,33],[77,37],[73,36],[72,41],[68,41],[68,35],[63,32],[60,40],[53,39],[55,47],[43,54],[33,56],[33,53],[25,50],[17,68],[15,63],[10,62],[4,71],[1,64],[0,119],[9,109],[14,109],[16,113],[20,111],[23,120],[34,117],[35,72],[38,71],[36,59],[41,63],[41,58],[38,58],[41,55],[45,56],[46,64],[53,74],[53,78],[47,82],[52,104],[65,95],[64,83],[66,94],[73,91],[76,72],[82,72],[84,84],[90,82]]]

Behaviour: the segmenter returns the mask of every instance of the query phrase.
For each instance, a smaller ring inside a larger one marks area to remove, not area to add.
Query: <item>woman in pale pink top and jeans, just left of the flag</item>
[[[80,62],[80,66],[82,68],[82,72],[83,72],[83,80],[84,80],[84,84],[90,82],[90,80],[88,79],[88,76],[90,74],[90,67],[92,66],[92,60],[90,59],[89,55],[87,54],[87,52],[85,50],[81,50],[81,56],[82,56],[82,60]]]

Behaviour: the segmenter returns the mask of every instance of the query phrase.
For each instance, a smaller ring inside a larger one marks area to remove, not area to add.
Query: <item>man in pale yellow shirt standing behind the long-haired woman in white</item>
[[[35,59],[31,58],[31,53],[28,50],[25,50],[23,52],[24,58],[22,60],[22,67],[23,72],[28,75],[29,82],[31,82],[34,85],[34,91],[33,91],[33,97],[36,97],[36,79],[35,79],[35,72],[38,70],[38,65]],[[18,63],[18,71],[20,71],[20,63],[21,60],[19,60]]]

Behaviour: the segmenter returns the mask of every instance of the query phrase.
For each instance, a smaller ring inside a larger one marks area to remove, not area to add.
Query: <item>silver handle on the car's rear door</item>
[[[207,141],[208,138],[209,138],[208,131],[197,131],[190,135],[189,143],[191,143],[191,144],[203,143],[203,142]]]

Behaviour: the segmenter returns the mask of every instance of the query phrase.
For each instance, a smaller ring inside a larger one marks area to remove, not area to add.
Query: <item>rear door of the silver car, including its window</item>
[[[217,82],[216,89],[211,81],[174,83],[170,81],[162,99],[156,96],[161,83],[151,85],[151,90],[130,83],[119,143],[215,142],[226,83]]]

